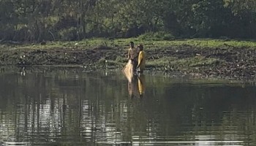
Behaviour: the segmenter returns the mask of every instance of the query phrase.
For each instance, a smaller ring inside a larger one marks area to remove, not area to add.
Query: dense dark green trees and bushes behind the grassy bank
[[[256,38],[255,0],[0,0],[0,4],[0,42],[140,34],[149,40]]]

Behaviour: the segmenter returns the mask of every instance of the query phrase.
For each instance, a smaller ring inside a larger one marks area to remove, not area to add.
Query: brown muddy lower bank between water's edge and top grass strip
[[[195,47],[177,45],[146,48],[147,72],[157,71],[192,77],[255,80],[256,48]],[[0,65],[83,66],[94,69],[121,69],[127,62],[127,48],[15,49],[1,51]]]

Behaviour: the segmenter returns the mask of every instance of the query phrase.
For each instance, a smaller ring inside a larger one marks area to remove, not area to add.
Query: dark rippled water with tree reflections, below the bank
[[[256,145],[255,98],[249,83],[1,69],[0,145]]]

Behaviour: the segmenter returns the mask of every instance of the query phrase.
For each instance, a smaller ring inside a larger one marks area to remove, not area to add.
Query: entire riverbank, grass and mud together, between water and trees
[[[130,41],[145,46],[147,72],[200,78],[256,78],[256,42],[222,39],[86,39],[46,45],[2,44],[0,65],[121,69],[127,63]]]

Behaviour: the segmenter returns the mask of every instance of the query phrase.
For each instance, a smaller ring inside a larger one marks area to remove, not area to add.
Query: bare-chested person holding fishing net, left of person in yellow
[[[139,50],[135,47],[134,42],[129,43],[128,50],[128,60],[132,61],[132,71],[136,72],[136,67],[138,66],[138,54]]]

